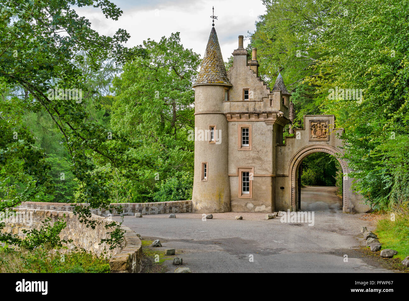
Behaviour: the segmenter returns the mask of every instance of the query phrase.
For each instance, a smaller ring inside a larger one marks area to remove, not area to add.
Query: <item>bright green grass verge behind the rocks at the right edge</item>
[[[384,219],[378,222],[375,234],[382,243],[382,249],[398,251],[394,257],[401,260],[409,256],[409,217],[404,214],[395,214],[395,220]]]

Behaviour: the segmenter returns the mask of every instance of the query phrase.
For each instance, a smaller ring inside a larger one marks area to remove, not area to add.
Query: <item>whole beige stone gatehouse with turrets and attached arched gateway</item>
[[[342,166],[343,211],[364,212],[351,190],[334,115],[306,115],[305,129],[290,129],[291,94],[281,74],[270,88],[258,76],[256,48],[248,58],[238,37],[226,72],[212,27],[195,88],[195,174],[192,211],[273,212],[300,209],[300,167],[314,152],[336,156]],[[292,113],[293,114],[293,113]]]

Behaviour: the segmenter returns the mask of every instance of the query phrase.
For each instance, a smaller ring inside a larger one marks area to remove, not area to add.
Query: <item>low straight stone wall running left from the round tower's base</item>
[[[88,204],[82,204],[88,206]],[[134,215],[135,213],[146,214],[161,214],[161,213],[187,213],[192,212],[192,201],[169,201],[155,203],[113,203],[112,206],[121,206],[124,215]],[[74,209],[71,204],[66,203],[45,203],[45,202],[24,202],[19,208],[43,208],[47,210],[63,210],[72,211]],[[96,215],[108,215],[110,212],[105,209],[91,209],[91,212]],[[112,215],[118,215],[112,212]]]

